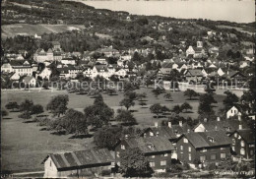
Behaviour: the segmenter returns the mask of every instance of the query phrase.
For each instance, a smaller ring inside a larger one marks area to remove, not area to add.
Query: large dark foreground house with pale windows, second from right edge
[[[230,156],[231,143],[224,131],[186,133],[177,140],[177,157],[181,162],[218,163]]]

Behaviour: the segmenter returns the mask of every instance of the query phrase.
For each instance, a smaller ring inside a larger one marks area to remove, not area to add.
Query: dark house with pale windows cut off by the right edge
[[[229,138],[232,140],[232,151],[246,159],[253,159],[255,156],[255,134],[250,129],[235,130],[230,134]]]

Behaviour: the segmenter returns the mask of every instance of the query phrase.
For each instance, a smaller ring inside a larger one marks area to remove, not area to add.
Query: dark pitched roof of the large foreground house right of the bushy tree
[[[232,143],[231,139],[226,136],[224,131],[187,133],[184,134],[184,136],[196,149],[226,146]],[[214,141],[211,142],[211,139]]]

